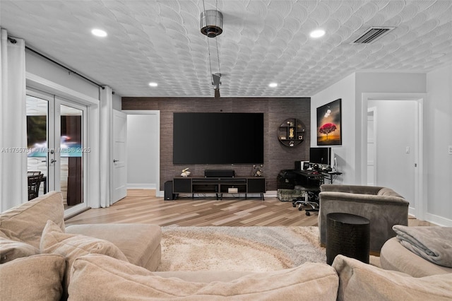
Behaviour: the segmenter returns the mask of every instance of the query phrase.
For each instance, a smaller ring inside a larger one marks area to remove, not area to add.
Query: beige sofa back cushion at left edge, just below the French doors
[[[64,230],[64,205],[61,192],[50,191],[32,201],[0,214],[0,231],[11,240],[40,247],[42,230],[52,220]]]

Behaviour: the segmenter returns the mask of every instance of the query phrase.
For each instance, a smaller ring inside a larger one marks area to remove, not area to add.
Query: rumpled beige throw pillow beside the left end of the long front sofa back
[[[78,256],[105,254],[129,262],[126,255],[112,242],[85,235],[64,233],[52,220],[47,221],[42,231],[40,250],[42,253],[59,254],[66,258],[65,290],[69,285],[71,266]]]

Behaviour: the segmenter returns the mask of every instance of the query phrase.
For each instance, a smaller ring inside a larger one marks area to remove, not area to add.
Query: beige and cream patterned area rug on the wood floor
[[[162,227],[157,271],[275,271],[326,262],[317,227]]]

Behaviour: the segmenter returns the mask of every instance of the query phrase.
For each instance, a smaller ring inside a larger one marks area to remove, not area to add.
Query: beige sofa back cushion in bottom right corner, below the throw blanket
[[[452,273],[414,278],[338,255],[338,300],[452,300]]]

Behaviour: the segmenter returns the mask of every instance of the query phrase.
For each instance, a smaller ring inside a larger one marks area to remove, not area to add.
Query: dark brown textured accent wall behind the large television
[[[311,98],[122,98],[122,110],[160,111],[160,190],[165,182],[189,167],[191,175],[206,169],[233,169],[241,177],[251,176],[252,165],[173,165],[172,119],[174,112],[262,112],[264,113],[263,176],[275,179],[280,170],[293,169],[296,160],[309,158]],[[304,142],[287,147],[278,141],[278,126],[287,118],[299,119],[306,129]],[[215,139],[212,139],[215,143]],[[246,148],[246,146],[243,146]]]

